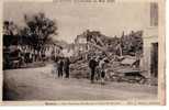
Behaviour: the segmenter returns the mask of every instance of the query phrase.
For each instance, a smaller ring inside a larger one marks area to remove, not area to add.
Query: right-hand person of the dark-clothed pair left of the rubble
[[[69,65],[70,65],[70,61],[68,57],[66,57],[64,62],[64,72],[66,74],[66,78],[69,78]]]

